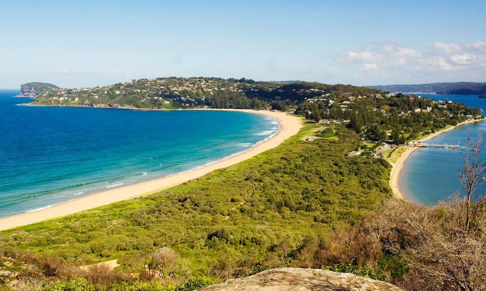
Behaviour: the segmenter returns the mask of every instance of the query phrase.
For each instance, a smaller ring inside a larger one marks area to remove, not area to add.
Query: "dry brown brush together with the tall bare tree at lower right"
[[[387,280],[409,291],[485,290],[486,197],[478,193],[486,169],[478,158],[483,134],[475,142],[468,137],[459,175],[464,196],[432,207],[390,199],[361,225],[330,235],[324,248],[335,260],[330,269]]]

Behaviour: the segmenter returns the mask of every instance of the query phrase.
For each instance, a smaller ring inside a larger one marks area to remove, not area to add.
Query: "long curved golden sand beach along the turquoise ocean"
[[[219,162],[208,164],[203,168],[194,169],[174,176],[158,178],[134,185],[106,190],[97,194],[92,194],[89,196],[84,196],[77,199],[69,200],[67,202],[59,203],[47,209],[24,212],[17,215],[1,218],[0,230],[5,230],[17,226],[24,226],[31,223],[52,219],[55,217],[65,216],[79,211],[88,210],[103,205],[108,205],[114,202],[119,202],[133,197],[141,196],[154,192],[156,190],[173,187],[175,185],[187,182],[191,179],[201,177],[214,170],[226,168],[236,163],[243,162],[244,160],[252,158],[266,150],[274,148],[280,145],[287,138],[295,135],[302,127],[301,118],[283,112],[233,109],[228,109],[227,111],[255,113],[277,118],[279,120],[280,129],[273,137],[268,138],[267,140],[252,147],[251,149],[239,155],[232,156],[226,160],[221,160]]]

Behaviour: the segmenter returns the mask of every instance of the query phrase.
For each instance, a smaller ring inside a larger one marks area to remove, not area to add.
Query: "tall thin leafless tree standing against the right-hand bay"
[[[470,136],[468,136],[466,157],[464,158],[464,169],[459,175],[461,184],[466,190],[466,217],[464,223],[466,233],[469,232],[471,197],[485,182],[486,160],[481,159],[480,157],[481,151],[485,145],[483,134],[484,130],[481,130],[478,134],[478,139],[475,142],[471,141]]]

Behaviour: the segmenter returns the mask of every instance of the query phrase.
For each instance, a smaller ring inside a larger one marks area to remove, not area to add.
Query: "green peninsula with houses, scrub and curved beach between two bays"
[[[340,84],[218,78],[60,88],[35,97],[33,105],[240,110],[275,117],[280,124],[272,138],[204,168],[0,219],[0,244],[13,250],[11,256],[33,250],[29,257],[15,257],[16,265],[6,270],[28,266],[59,284],[71,282],[57,275],[64,273],[49,273],[51,262],[59,264],[56,270],[68,270],[70,264],[78,270],[69,273],[75,276],[85,276],[77,275],[79,270],[91,274],[89,266],[97,269],[103,262],[117,268],[104,270],[106,276],[156,276],[144,264],[155,258],[174,263],[174,278],[165,285],[196,280],[199,285],[191,288],[290,266],[329,266],[389,282],[392,273],[398,274],[396,280],[405,280],[410,272],[421,275],[420,270],[404,271],[412,266],[403,259],[406,246],[390,255],[381,241],[374,241],[381,234],[363,227],[388,220],[395,229],[408,215],[409,206],[393,198],[389,184],[398,177],[403,161],[398,158],[407,142],[482,119],[478,109],[416,95]],[[391,235],[386,241],[395,237],[393,229],[387,230]],[[354,237],[362,233],[370,233],[365,242]],[[356,258],[353,252],[366,249],[367,242],[377,249],[358,256],[375,265],[333,259],[336,254]],[[130,287],[145,284],[127,280]]]

